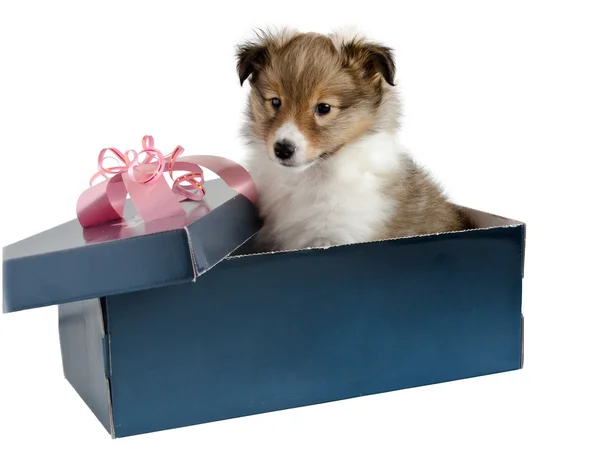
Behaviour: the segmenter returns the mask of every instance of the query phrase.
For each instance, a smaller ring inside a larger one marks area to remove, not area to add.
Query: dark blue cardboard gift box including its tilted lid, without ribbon
[[[256,254],[220,180],[185,218],[127,208],[3,255],[4,312],[58,305],[65,377],[115,438],[522,368],[522,222]]]

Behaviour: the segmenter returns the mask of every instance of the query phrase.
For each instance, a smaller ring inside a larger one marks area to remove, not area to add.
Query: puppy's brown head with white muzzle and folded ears
[[[307,167],[374,126],[385,83],[394,83],[388,48],[324,35],[267,35],[238,49],[250,78],[249,117],[272,161]]]

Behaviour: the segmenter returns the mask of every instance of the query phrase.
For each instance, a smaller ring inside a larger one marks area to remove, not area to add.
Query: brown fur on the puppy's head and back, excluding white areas
[[[238,48],[240,82],[249,79],[251,84],[250,140],[272,151],[275,130],[291,121],[306,137],[308,158],[314,160],[335,157],[340,148],[366,134],[397,129],[392,51],[363,39],[340,42],[316,33],[264,33]],[[272,98],[281,100],[279,109],[272,106]],[[319,103],[331,105],[331,112],[315,114]],[[389,223],[381,225],[378,239],[471,228],[412,160],[407,159],[384,193],[398,207]]]

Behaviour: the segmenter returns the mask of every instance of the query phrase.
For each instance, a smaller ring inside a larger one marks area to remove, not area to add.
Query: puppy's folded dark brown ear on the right
[[[394,86],[396,64],[391,48],[383,45],[353,40],[342,46],[345,62],[360,67],[367,78],[382,77],[390,86]]]

